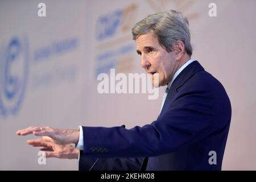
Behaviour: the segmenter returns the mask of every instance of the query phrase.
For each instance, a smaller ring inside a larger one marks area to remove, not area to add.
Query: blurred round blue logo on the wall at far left
[[[24,98],[28,77],[27,38],[13,38],[2,49],[0,59],[0,114],[17,114]]]

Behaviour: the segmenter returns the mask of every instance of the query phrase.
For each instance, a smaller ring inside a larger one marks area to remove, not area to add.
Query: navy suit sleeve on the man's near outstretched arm
[[[203,86],[202,86],[203,85]],[[209,84],[202,81],[183,86],[157,121],[132,129],[82,127],[84,156],[138,158],[178,150],[207,137],[212,130],[214,99]]]

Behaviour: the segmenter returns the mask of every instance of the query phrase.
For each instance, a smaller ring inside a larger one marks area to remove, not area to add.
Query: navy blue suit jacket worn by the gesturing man
[[[100,158],[94,170],[220,170],[230,119],[224,87],[193,61],[176,77],[150,125],[83,127],[79,168],[88,170]],[[209,163],[215,157],[216,164]]]

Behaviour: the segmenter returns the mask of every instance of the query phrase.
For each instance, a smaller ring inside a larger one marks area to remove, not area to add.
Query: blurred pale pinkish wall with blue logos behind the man
[[[99,73],[143,73],[131,28],[174,9],[189,19],[192,59],[216,77],[232,102],[223,170],[256,169],[256,1],[0,0],[0,169],[77,170],[77,160],[47,159],[19,137],[30,125],[143,126],[159,114],[148,94],[99,94]],[[209,3],[217,16],[210,17]]]

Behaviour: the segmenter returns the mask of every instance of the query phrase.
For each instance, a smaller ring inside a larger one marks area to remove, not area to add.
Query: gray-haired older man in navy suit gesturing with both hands
[[[132,32],[141,66],[153,84],[167,86],[156,121],[130,130],[32,126],[17,134],[48,136],[28,143],[46,150],[47,157],[80,154],[80,169],[220,170],[231,105],[221,83],[191,59],[188,20],[165,11],[147,16]]]

